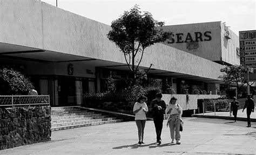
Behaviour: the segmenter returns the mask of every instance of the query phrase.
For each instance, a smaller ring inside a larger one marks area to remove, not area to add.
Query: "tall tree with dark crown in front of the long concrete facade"
[[[127,66],[133,75],[133,84],[136,79],[143,77],[153,65],[150,64],[144,75],[138,74],[144,50],[172,37],[172,32],[165,32],[163,29],[157,28],[163,26],[164,22],[153,19],[150,12],[142,14],[139,10],[138,5],[134,5],[130,11],[125,11],[120,18],[111,23],[112,30],[107,34],[107,38],[123,52]],[[136,56],[140,58],[136,59]]]

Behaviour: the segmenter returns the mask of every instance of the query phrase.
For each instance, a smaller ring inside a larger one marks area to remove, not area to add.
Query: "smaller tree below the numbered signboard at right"
[[[234,83],[238,90],[238,96],[242,91],[242,87],[244,84],[248,83],[246,79],[244,79],[244,74],[250,69],[248,66],[242,65],[233,65],[233,66],[225,66],[225,68],[220,69],[220,72],[224,74],[221,75],[221,78],[228,85]]]

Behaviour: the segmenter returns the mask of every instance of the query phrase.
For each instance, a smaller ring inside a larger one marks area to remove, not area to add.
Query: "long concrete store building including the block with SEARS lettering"
[[[110,25],[36,0],[0,2],[0,68],[29,76],[52,106],[79,105],[83,93],[104,91],[108,77],[127,77],[123,53],[106,37]],[[238,36],[221,22],[164,29],[174,32],[174,41],[147,48],[140,68],[153,63],[149,79],[177,93],[188,85],[190,92],[198,86],[216,94],[223,64],[239,64]]]

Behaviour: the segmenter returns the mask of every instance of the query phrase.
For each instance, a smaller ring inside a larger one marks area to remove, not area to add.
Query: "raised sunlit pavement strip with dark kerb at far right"
[[[234,120],[233,113],[230,116],[230,112],[207,112],[192,114],[192,117],[205,117],[205,118],[222,118]],[[242,109],[239,109],[237,112],[237,120],[247,121],[246,109],[242,112]],[[251,113],[251,122],[256,122],[256,111]]]

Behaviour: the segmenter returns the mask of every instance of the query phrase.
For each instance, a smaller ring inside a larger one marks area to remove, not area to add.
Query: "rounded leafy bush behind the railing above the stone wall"
[[[28,95],[33,85],[22,73],[3,69],[0,70],[1,95]]]

